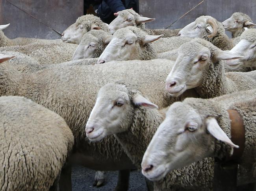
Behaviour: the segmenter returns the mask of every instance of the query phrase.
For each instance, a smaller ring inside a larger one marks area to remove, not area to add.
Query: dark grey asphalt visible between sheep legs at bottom
[[[117,171],[108,171],[102,187],[93,187],[95,171],[82,166],[72,167],[72,191],[113,191],[117,184]],[[147,191],[144,176],[141,171],[130,173],[129,191]]]

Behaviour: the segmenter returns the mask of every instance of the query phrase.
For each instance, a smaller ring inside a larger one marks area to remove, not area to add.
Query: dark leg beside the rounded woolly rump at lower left
[[[59,191],[72,191],[71,167],[70,163],[62,167],[59,177]]]

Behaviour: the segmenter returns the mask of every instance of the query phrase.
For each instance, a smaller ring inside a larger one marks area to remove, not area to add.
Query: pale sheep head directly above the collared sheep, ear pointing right
[[[230,60],[242,56],[222,51],[210,42],[196,38],[178,49],[178,57],[167,76],[166,90],[172,96],[180,96],[187,89],[202,84],[210,65],[219,60]]]

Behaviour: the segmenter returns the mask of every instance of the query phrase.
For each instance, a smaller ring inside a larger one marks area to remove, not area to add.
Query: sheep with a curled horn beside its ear
[[[230,50],[234,46],[233,41],[226,35],[223,24],[211,16],[199,16],[181,29],[178,36],[203,38],[222,50]]]

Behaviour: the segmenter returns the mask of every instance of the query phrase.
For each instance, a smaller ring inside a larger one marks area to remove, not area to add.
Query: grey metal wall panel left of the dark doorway
[[[0,24],[11,24],[4,30],[9,38],[57,39],[56,31],[62,33],[81,15],[83,0],[0,0]]]

